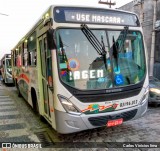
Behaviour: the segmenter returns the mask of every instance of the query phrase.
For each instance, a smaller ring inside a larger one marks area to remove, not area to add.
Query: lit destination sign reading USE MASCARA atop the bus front
[[[136,15],[118,10],[56,7],[54,20],[58,23],[115,24],[139,26]]]

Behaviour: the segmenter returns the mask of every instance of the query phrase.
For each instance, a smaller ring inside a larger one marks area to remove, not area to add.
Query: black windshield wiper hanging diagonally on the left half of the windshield
[[[105,64],[105,68],[107,70],[107,61],[106,61],[107,52],[105,51],[103,36],[101,36],[101,43],[100,43],[99,40],[96,38],[96,36],[93,34],[93,32],[88,28],[86,24],[81,25],[81,31],[84,33],[84,35],[86,36],[88,41],[91,43],[91,45],[95,48],[97,53],[103,56],[103,61]]]

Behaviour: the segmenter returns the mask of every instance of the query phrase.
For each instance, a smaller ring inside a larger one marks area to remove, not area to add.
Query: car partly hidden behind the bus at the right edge
[[[160,80],[151,76],[149,77],[149,104],[158,106],[160,104]]]

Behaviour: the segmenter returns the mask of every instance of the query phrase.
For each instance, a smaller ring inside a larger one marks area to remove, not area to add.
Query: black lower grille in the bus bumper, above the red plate
[[[123,112],[115,115],[99,116],[99,117],[90,117],[88,118],[89,122],[93,126],[105,126],[109,120],[116,120],[123,118],[123,121],[128,121],[132,119],[137,113],[137,109],[132,111]]]

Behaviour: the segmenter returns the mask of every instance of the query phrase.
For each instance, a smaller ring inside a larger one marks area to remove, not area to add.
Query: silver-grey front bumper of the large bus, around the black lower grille
[[[123,118],[124,121],[131,119],[134,120],[142,117],[146,113],[147,108],[148,101],[142,105],[138,105],[132,108],[100,114],[73,115],[55,110],[56,130],[59,133],[67,134],[105,126],[108,120],[118,118]]]

